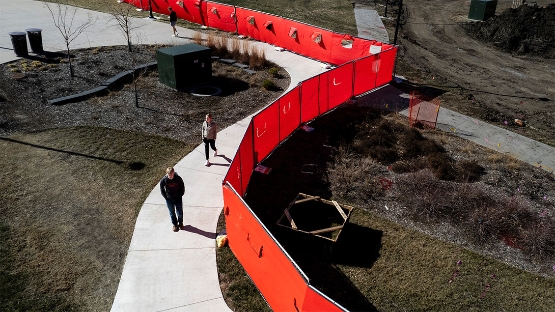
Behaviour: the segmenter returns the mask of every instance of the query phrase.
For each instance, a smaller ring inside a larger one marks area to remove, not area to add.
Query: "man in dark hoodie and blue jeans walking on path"
[[[173,232],[183,229],[183,195],[185,194],[185,184],[183,179],[175,173],[173,167],[166,169],[166,175],[160,180],[160,192],[166,200],[166,205],[170,212]],[[177,213],[177,217],[175,214]]]

